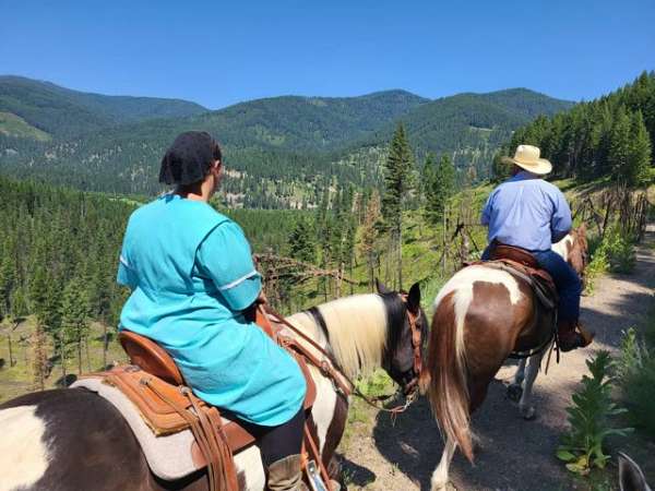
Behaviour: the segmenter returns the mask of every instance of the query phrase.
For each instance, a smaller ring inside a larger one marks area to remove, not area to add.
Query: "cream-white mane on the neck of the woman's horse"
[[[382,363],[388,320],[384,300],[379,295],[353,295],[317,308],[327,327],[330,347],[349,378],[369,373]],[[295,326],[325,346],[327,339],[313,316],[300,312],[288,318]]]

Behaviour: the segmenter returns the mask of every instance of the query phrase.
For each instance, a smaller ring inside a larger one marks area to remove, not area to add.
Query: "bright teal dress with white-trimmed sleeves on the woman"
[[[241,228],[203,202],[166,194],[128,223],[118,283],[132,289],[120,328],[164,347],[193,392],[262,426],[302,405],[302,373],[241,311],[261,276]]]

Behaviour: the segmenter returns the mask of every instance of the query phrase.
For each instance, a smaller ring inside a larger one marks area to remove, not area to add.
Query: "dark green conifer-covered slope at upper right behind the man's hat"
[[[597,179],[635,187],[655,177],[655,72],[551,118],[539,116],[504,146],[511,154],[527,143],[541,148],[560,177]],[[496,171],[505,169],[496,160]]]

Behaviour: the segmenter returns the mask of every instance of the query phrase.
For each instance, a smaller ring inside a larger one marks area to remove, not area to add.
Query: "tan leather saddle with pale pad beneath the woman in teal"
[[[270,335],[284,339],[284,330],[272,325],[269,319],[258,319],[258,323],[265,324]],[[219,458],[216,447],[225,447],[221,458],[230,460],[225,465],[231,465],[231,455],[255,442],[238,421],[195,397],[184,385],[174,360],[156,343],[127,331],[119,334],[119,339],[134,364],[83,375],[71,387],[95,392],[121,414],[155,476],[177,480],[203,469],[207,466],[207,455],[211,465]],[[305,375],[303,407],[309,409],[315,400],[315,383],[306,359],[298,352],[289,352]],[[204,427],[199,428],[198,421]],[[205,434],[202,439],[199,431]],[[207,445],[214,452],[207,452]]]

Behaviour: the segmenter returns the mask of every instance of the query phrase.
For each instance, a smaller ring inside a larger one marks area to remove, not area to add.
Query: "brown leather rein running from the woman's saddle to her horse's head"
[[[286,347],[287,349],[294,349],[295,351],[302,355],[305,358],[307,358],[307,360],[311,364],[317,367],[324,376],[332,380],[332,382],[335,385],[336,391],[340,392],[344,397],[347,398],[352,394],[354,394],[354,395],[358,396],[359,398],[361,398],[369,406],[371,406],[380,411],[391,412],[393,416],[396,416],[401,412],[404,412],[412,405],[412,403],[414,403],[417,399],[418,388],[419,388],[418,381],[419,381],[419,378],[420,378],[420,374],[422,371],[422,355],[421,355],[421,352],[422,352],[422,349],[421,349],[422,348],[422,333],[417,325],[418,319],[420,316],[420,309],[419,309],[418,315],[414,314],[407,308],[407,294],[400,294],[400,295],[401,295],[401,299],[405,303],[407,321],[409,322],[409,328],[412,331],[412,347],[414,350],[414,378],[409,381],[409,383],[405,387],[405,391],[404,391],[405,403],[402,405],[395,406],[391,409],[385,408],[385,407],[381,406],[380,404],[377,404],[378,402],[386,399],[391,396],[378,398],[378,399],[370,398],[369,396],[364,394],[357,387],[355,382],[348,375],[346,375],[346,373],[344,372],[344,370],[341,367],[337,366],[337,363],[333,359],[333,357],[322,346],[320,346],[315,340],[313,340],[311,337],[309,337],[307,334],[305,334],[301,330],[299,330],[298,327],[293,325],[290,322],[288,322],[283,315],[273,311],[270,307],[264,308],[264,306],[260,303],[258,306],[258,309],[260,309],[261,313],[264,315],[266,313],[272,315],[276,322],[288,327],[290,331],[293,331],[296,335],[298,335],[300,338],[302,338],[305,342],[307,342],[312,348],[314,348],[317,351],[319,351],[321,354],[322,358],[319,359],[317,356],[314,356],[312,352],[310,352],[305,346],[298,344],[295,339],[293,339],[288,336],[278,336],[278,342],[284,347]],[[344,383],[344,380],[347,382],[347,385]]]

